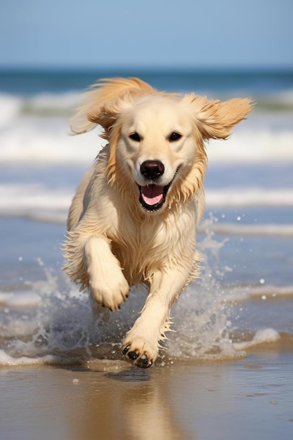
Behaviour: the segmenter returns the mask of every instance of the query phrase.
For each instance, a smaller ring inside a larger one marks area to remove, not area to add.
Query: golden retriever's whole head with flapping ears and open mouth
[[[204,140],[227,138],[251,109],[249,99],[221,103],[161,93],[138,79],[110,80],[90,93],[82,110],[88,122],[74,131],[103,127],[109,183],[134,193],[150,214],[203,190]]]

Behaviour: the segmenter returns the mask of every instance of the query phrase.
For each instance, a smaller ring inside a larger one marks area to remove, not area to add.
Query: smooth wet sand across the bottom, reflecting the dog
[[[293,351],[0,369],[1,440],[293,438]]]

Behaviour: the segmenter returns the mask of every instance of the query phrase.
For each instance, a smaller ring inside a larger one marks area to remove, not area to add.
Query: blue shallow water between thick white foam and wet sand
[[[60,270],[67,209],[85,169],[1,165],[2,365],[121,358],[119,345],[145,301],[143,287],[119,313],[95,316],[87,292],[79,293]],[[291,170],[291,163],[211,163],[197,234],[202,276],[174,307],[176,332],[169,334],[162,364],[238,358],[245,347],[292,344]]]

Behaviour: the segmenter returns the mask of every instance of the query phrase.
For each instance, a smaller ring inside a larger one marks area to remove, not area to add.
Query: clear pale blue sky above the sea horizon
[[[292,0],[1,0],[0,68],[293,67]]]

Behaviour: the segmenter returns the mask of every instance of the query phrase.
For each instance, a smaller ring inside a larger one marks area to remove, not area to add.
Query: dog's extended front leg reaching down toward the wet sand
[[[188,280],[188,273],[155,273],[141,316],[129,330],[122,344],[123,353],[135,365],[148,368],[155,362],[159,340],[169,330],[169,313]]]

